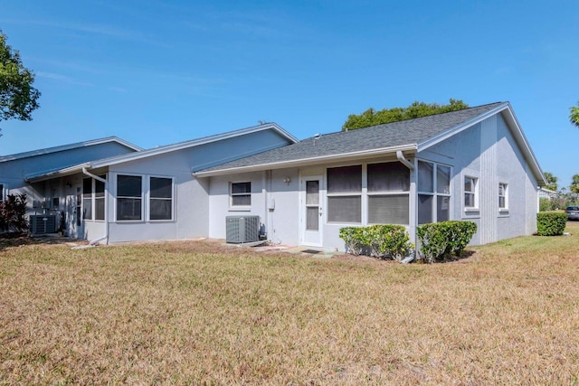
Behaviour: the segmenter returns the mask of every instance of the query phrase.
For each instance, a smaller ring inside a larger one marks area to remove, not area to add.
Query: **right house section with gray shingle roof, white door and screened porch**
[[[352,225],[402,224],[415,240],[417,225],[469,220],[472,244],[532,234],[546,184],[508,102],[316,136],[195,178],[209,186],[209,237],[246,213],[273,242],[338,250]]]

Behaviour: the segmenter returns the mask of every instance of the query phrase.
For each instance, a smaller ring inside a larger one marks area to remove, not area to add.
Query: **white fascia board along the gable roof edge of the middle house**
[[[252,134],[252,133],[257,133],[259,131],[268,130],[268,129],[273,129],[273,130],[277,131],[278,133],[280,133],[280,135],[282,137],[286,137],[290,142],[293,142],[293,143],[299,142],[298,138],[291,136],[287,131],[285,131],[283,128],[279,127],[277,124],[267,123],[267,124],[263,124],[260,126],[247,127],[247,128],[242,128],[240,130],[230,131],[228,133],[217,134],[217,135],[211,136],[211,137],[193,139],[190,141],[179,142],[179,143],[173,144],[173,145],[160,146],[160,147],[156,147],[153,149],[143,150],[143,151],[140,151],[138,153],[132,153],[132,154],[128,154],[128,155],[119,155],[116,157],[105,158],[105,159],[102,159],[99,161],[92,162],[91,164],[92,164],[93,168],[110,166],[110,165],[118,165],[118,164],[123,164],[123,163],[129,162],[129,161],[135,161],[135,160],[138,160],[141,158],[146,158],[148,156],[163,155],[166,153],[175,152],[177,150],[183,150],[183,149],[188,148],[188,147],[201,146],[201,145],[209,144],[212,142],[221,141],[223,139],[240,137],[240,136],[244,136],[244,135]]]

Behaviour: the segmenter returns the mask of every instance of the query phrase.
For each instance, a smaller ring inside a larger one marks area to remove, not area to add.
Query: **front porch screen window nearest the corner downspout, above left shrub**
[[[397,162],[370,164],[368,176],[368,223],[409,223],[410,170]]]

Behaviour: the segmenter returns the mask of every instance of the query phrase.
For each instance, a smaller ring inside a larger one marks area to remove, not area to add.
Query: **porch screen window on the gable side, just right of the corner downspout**
[[[451,218],[451,167],[418,161],[418,223]]]

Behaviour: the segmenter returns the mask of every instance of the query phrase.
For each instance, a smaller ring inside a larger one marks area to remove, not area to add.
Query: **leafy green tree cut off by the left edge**
[[[32,120],[40,97],[33,82],[33,72],[24,67],[20,53],[6,44],[6,35],[0,30],[0,121]]]

